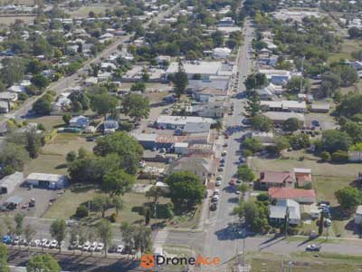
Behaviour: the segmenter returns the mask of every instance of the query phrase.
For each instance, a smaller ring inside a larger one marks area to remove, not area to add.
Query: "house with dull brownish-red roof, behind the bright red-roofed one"
[[[271,187],[294,188],[295,180],[290,171],[263,171],[260,174],[259,185],[261,189]]]

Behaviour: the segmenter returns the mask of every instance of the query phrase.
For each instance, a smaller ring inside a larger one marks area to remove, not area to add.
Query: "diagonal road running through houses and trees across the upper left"
[[[159,15],[155,16],[154,18],[148,20],[145,24],[143,24],[143,27],[147,28],[151,22],[160,22],[163,18],[167,17],[168,15],[172,15],[172,13],[179,7],[179,3],[177,5],[172,6],[171,8],[167,9],[166,11],[163,11],[159,13]],[[65,76],[62,79],[60,79],[56,83],[52,83],[47,90],[52,90],[56,92],[57,95],[59,95],[62,92],[65,92],[69,87],[73,86],[77,81],[81,80],[81,75],[84,73],[87,73],[87,71],[90,69],[90,64],[92,63],[99,63],[102,59],[107,59],[112,53],[115,53],[118,51],[120,44],[127,43],[131,38],[133,37],[133,34],[127,34],[124,35],[117,40],[115,40],[112,44],[110,44],[108,47],[106,47],[100,54],[98,54],[96,57],[88,60],[83,64],[83,66],[75,73]],[[45,94],[45,92],[43,92]],[[33,103],[38,100],[41,96],[35,96],[30,99],[28,99],[24,104],[19,107],[14,112],[9,112],[5,114],[4,118],[0,121],[0,132],[6,131],[6,123],[10,119],[20,120],[22,118],[28,117],[28,112],[33,108]]]

